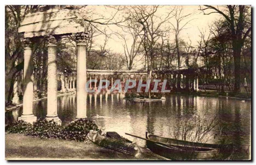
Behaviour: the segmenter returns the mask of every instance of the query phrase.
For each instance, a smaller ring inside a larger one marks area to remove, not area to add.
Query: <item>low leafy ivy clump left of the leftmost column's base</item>
[[[14,122],[5,128],[7,133],[22,133],[26,134],[32,128],[32,124],[20,120]]]

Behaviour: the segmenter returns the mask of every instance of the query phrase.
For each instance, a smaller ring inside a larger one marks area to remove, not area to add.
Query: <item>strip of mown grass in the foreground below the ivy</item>
[[[5,133],[6,160],[163,160],[145,153],[133,157],[101,148],[93,143],[33,138]]]

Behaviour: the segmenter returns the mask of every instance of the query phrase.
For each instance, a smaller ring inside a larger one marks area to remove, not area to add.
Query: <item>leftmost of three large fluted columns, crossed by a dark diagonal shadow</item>
[[[18,120],[33,123],[36,116],[33,114],[33,55],[30,48],[30,40],[23,38],[24,44],[24,75],[23,75],[23,111]]]

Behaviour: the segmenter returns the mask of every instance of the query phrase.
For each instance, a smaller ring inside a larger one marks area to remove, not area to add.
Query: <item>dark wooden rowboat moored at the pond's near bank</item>
[[[189,142],[164,138],[148,132],[146,139],[148,149],[171,160],[224,160],[232,152],[231,145]]]

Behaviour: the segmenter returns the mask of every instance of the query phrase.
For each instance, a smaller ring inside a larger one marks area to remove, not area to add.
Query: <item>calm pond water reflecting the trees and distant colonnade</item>
[[[46,109],[47,99],[33,105],[33,113],[37,117],[46,116]],[[17,121],[21,114],[22,107],[6,112],[5,124]],[[58,114],[62,125],[67,125],[75,118],[75,94],[58,97]],[[96,115],[100,117],[95,117]],[[125,100],[123,94],[98,93],[88,94],[87,116],[95,120],[105,132],[116,131],[140,146],[146,145],[145,140],[125,135],[125,132],[145,138],[145,132],[148,131],[159,136],[179,139],[186,137],[184,133],[187,133],[187,139],[193,139],[195,132],[186,131],[190,128],[189,124],[195,123],[195,128],[214,126],[203,137],[204,142],[219,143],[224,137],[235,145],[230,159],[249,159],[251,101],[168,95],[165,101],[134,102]]]

